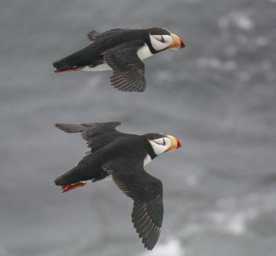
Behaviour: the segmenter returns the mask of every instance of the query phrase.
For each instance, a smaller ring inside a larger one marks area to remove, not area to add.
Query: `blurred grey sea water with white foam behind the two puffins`
[[[275,0],[0,1],[0,255],[276,255],[275,14]],[[187,48],[144,61],[144,93],[53,72],[91,29],[151,27]],[[88,150],[55,122],[110,121],[182,143],[145,167],[164,186],[148,253],[112,181],[53,182]]]

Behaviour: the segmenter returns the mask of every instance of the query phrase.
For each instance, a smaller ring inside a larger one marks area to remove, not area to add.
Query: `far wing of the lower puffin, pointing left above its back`
[[[121,125],[121,122],[94,122],[77,125],[55,124],[55,127],[68,133],[81,132],[81,137],[87,141],[88,147],[92,151],[97,151],[118,137],[126,135],[115,129],[118,125]]]

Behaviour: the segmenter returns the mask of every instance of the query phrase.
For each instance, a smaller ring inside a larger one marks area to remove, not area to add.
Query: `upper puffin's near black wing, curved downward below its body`
[[[144,41],[122,43],[103,52],[104,61],[112,68],[111,85],[124,92],[144,92],[146,79],[145,65],[137,56]]]

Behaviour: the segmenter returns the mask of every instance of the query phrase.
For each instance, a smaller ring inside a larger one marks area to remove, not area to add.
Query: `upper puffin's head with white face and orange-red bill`
[[[177,50],[186,47],[184,42],[166,28],[150,28],[150,43],[157,52],[170,48]]]

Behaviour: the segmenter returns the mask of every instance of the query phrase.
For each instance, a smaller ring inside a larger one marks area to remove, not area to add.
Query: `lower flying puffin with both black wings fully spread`
[[[133,202],[132,223],[148,250],[157,243],[163,220],[163,189],[144,166],[161,153],[174,151],[181,143],[164,134],[124,134],[115,129],[121,122],[81,125],[56,124],[68,133],[81,132],[91,151],[76,167],[55,180],[63,192],[88,182],[112,179]]]

